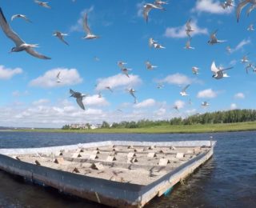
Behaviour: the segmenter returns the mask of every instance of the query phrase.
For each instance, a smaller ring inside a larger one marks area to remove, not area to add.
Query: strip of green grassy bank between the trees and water
[[[56,132],[56,133],[147,133],[147,134],[167,134],[167,133],[207,133],[207,132],[229,132],[256,130],[256,122],[239,122],[226,124],[197,124],[197,125],[178,125],[178,126],[152,126],[134,129],[95,129],[95,130],[54,130],[54,129],[34,129],[22,131],[34,132]],[[21,130],[18,130],[21,131]]]

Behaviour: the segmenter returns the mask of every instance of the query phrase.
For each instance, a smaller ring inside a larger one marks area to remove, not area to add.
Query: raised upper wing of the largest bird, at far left
[[[24,41],[22,41],[21,38],[18,37],[18,34],[16,34],[14,32],[14,30],[12,30],[8,24],[8,22],[6,21],[6,17],[5,15],[2,13],[2,8],[0,7],[0,25],[2,27],[3,32],[6,34],[6,36],[8,38],[10,38],[13,42],[15,42],[16,46],[20,46],[23,43],[25,43]]]

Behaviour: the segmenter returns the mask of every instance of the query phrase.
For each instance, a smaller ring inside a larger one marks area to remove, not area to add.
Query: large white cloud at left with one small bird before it
[[[60,73],[61,82],[57,82],[57,74]],[[56,68],[46,71],[42,76],[30,81],[30,86],[40,86],[43,88],[51,88],[58,86],[76,85],[82,82],[82,78],[76,69]]]

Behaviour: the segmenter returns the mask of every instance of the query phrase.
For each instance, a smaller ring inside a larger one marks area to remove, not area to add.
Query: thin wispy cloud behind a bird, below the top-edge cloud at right
[[[197,21],[192,21],[191,27],[194,29],[194,32],[190,33],[191,36],[194,36],[196,34],[208,34],[207,28],[200,28],[197,25]],[[187,38],[186,24],[184,26],[178,27],[167,27],[164,35],[168,38]]]

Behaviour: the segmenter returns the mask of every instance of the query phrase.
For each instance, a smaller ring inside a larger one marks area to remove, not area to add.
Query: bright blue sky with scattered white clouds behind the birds
[[[214,110],[254,109],[256,74],[252,70],[246,74],[246,65],[240,60],[249,53],[250,62],[256,61],[256,31],[246,30],[255,23],[255,11],[246,17],[246,9],[242,10],[238,23],[235,8],[223,10],[220,2],[224,1],[173,0],[165,5],[166,11],[151,10],[146,23],[142,17],[146,1],[52,0],[51,9],[32,0],[2,1],[12,29],[25,42],[38,43],[37,51],[52,59],[41,60],[26,52],[9,54],[14,42],[0,31],[0,126],[61,127],[66,123],[158,120]],[[82,39],[86,12],[98,39]],[[13,14],[26,14],[32,23],[21,18],[11,22]],[[190,18],[195,49],[185,50],[184,26]],[[217,37],[226,42],[210,46],[207,41],[216,29]],[[70,46],[52,36],[54,30],[69,34],[65,39]],[[166,49],[150,48],[149,38]],[[232,49],[230,54],[226,46]],[[147,60],[158,68],[146,70]],[[127,62],[132,69],[130,78],[122,74],[118,61]],[[217,66],[234,66],[228,71],[230,78],[212,78],[213,61]],[[192,74],[192,66],[198,66],[198,75]],[[58,71],[61,83],[56,82]],[[162,89],[157,88],[158,82],[164,85]],[[189,96],[182,97],[179,92],[187,84]],[[114,92],[105,90],[106,85]],[[126,91],[130,87],[137,91],[136,104]],[[70,89],[90,94],[83,101],[86,110],[70,98]],[[102,98],[98,98],[99,91]],[[210,106],[202,107],[204,101]]]

